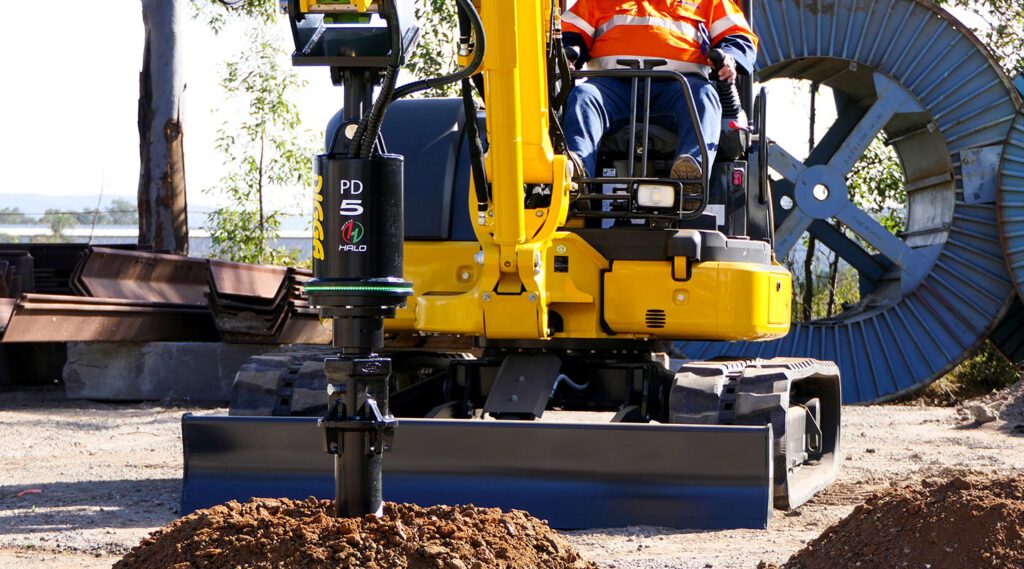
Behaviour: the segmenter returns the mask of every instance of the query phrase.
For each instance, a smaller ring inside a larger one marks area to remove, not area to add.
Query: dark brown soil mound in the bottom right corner
[[[1024,568],[1024,480],[957,477],[876,494],[782,567],[854,566]]]

